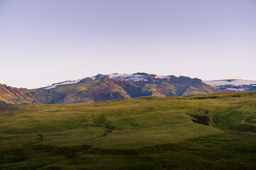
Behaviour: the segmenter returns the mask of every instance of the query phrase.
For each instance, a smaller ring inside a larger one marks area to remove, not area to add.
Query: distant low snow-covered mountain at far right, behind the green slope
[[[204,80],[204,83],[227,91],[256,91],[256,81],[243,79]]]

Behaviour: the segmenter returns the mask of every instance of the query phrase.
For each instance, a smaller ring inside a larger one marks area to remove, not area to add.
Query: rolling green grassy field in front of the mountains
[[[0,105],[0,169],[256,169],[256,92]]]

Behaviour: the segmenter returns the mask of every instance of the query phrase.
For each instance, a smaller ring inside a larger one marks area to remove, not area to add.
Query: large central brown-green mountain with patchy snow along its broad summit
[[[108,101],[139,96],[187,96],[223,90],[204,84],[201,79],[136,73],[98,74],[96,77],[79,81],[63,81],[45,88],[23,91],[21,98],[26,98],[28,103],[34,101],[54,104]],[[23,103],[26,103],[26,100]],[[6,101],[8,100],[4,102]]]

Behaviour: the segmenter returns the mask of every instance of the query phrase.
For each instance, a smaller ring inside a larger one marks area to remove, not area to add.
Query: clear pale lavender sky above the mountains
[[[256,80],[256,0],[0,0],[0,84],[114,72]]]

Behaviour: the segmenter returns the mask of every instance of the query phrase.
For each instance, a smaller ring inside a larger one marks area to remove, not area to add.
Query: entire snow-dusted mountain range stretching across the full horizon
[[[202,81],[183,76],[160,76],[140,72],[98,74],[38,89],[18,89],[0,84],[0,104],[87,103],[139,96],[190,96],[224,91],[256,91],[256,81]]]

